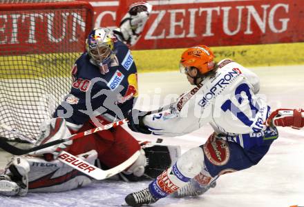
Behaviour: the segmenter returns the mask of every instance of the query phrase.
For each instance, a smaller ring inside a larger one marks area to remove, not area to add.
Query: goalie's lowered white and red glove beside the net
[[[40,138],[37,140],[35,146],[39,146],[40,144],[46,144],[50,141],[55,141],[57,139],[64,139],[66,137],[70,137],[71,135],[70,130],[68,130],[66,126],[66,120],[63,118],[53,118],[42,122],[40,130],[41,135]],[[50,161],[52,159],[56,159],[60,152],[71,144],[73,144],[72,140],[66,141],[61,144],[31,152],[30,155],[44,155],[46,160]]]

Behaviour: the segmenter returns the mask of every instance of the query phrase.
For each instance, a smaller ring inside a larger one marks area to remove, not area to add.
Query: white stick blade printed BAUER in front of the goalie
[[[79,159],[79,157],[70,155],[70,153],[66,151],[62,151],[58,156],[58,159],[64,164],[76,168],[80,172],[90,177],[93,177],[94,179],[101,180],[126,170],[126,168],[131,166],[139,156],[140,151],[137,150],[131,157],[129,157],[129,159],[124,161],[122,164],[108,170],[102,170],[100,168],[97,168],[96,166],[89,164],[88,162],[82,159]]]

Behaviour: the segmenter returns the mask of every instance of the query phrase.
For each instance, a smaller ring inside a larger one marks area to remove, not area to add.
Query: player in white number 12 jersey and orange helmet
[[[191,91],[181,95],[158,114],[133,109],[129,127],[135,132],[180,136],[210,124],[214,132],[205,144],[185,152],[148,188],[131,193],[129,206],[153,204],[167,195],[200,195],[220,175],[258,164],[278,138],[275,126],[265,126],[270,108],[258,95],[258,77],[239,63],[213,61],[207,46],[196,46],[182,53],[180,69]]]

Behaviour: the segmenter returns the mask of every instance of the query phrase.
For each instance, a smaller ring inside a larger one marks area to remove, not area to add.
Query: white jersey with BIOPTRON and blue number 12
[[[265,130],[269,107],[258,95],[259,88],[254,72],[224,59],[214,77],[184,93],[169,110],[143,121],[153,134],[163,136],[184,135],[208,123],[223,137],[260,132]]]

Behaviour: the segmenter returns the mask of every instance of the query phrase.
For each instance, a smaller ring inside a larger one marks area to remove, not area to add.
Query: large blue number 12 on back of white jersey
[[[240,86],[238,86],[238,88],[236,88],[236,99],[238,100],[238,103],[242,103],[245,99],[242,97],[241,92],[245,92],[247,99],[249,101],[249,106],[251,108],[251,112],[252,112],[252,117],[256,117],[256,113],[258,112],[258,110],[260,109],[260,107],[258,106],[258,103],[254,104],[253,100],[252,100],[252,96],[250,93],[250,88],[246,83],[242,83],[240,84]],[[240,111],[240,109],[238,108],[238,106],[236,106],[234,103],[232,103],[232,101],[230,99],[227,99],[227,101],[225,101],[222,106],[221,106],[223,111],[227,111],[230,110],[238,119],[240,119],[240,121],[243,122],[243,124],[245,124],[246,126],[251,126],[254,121],[251,121],[246,115],[245,113],[243,113],[242,111]]]

